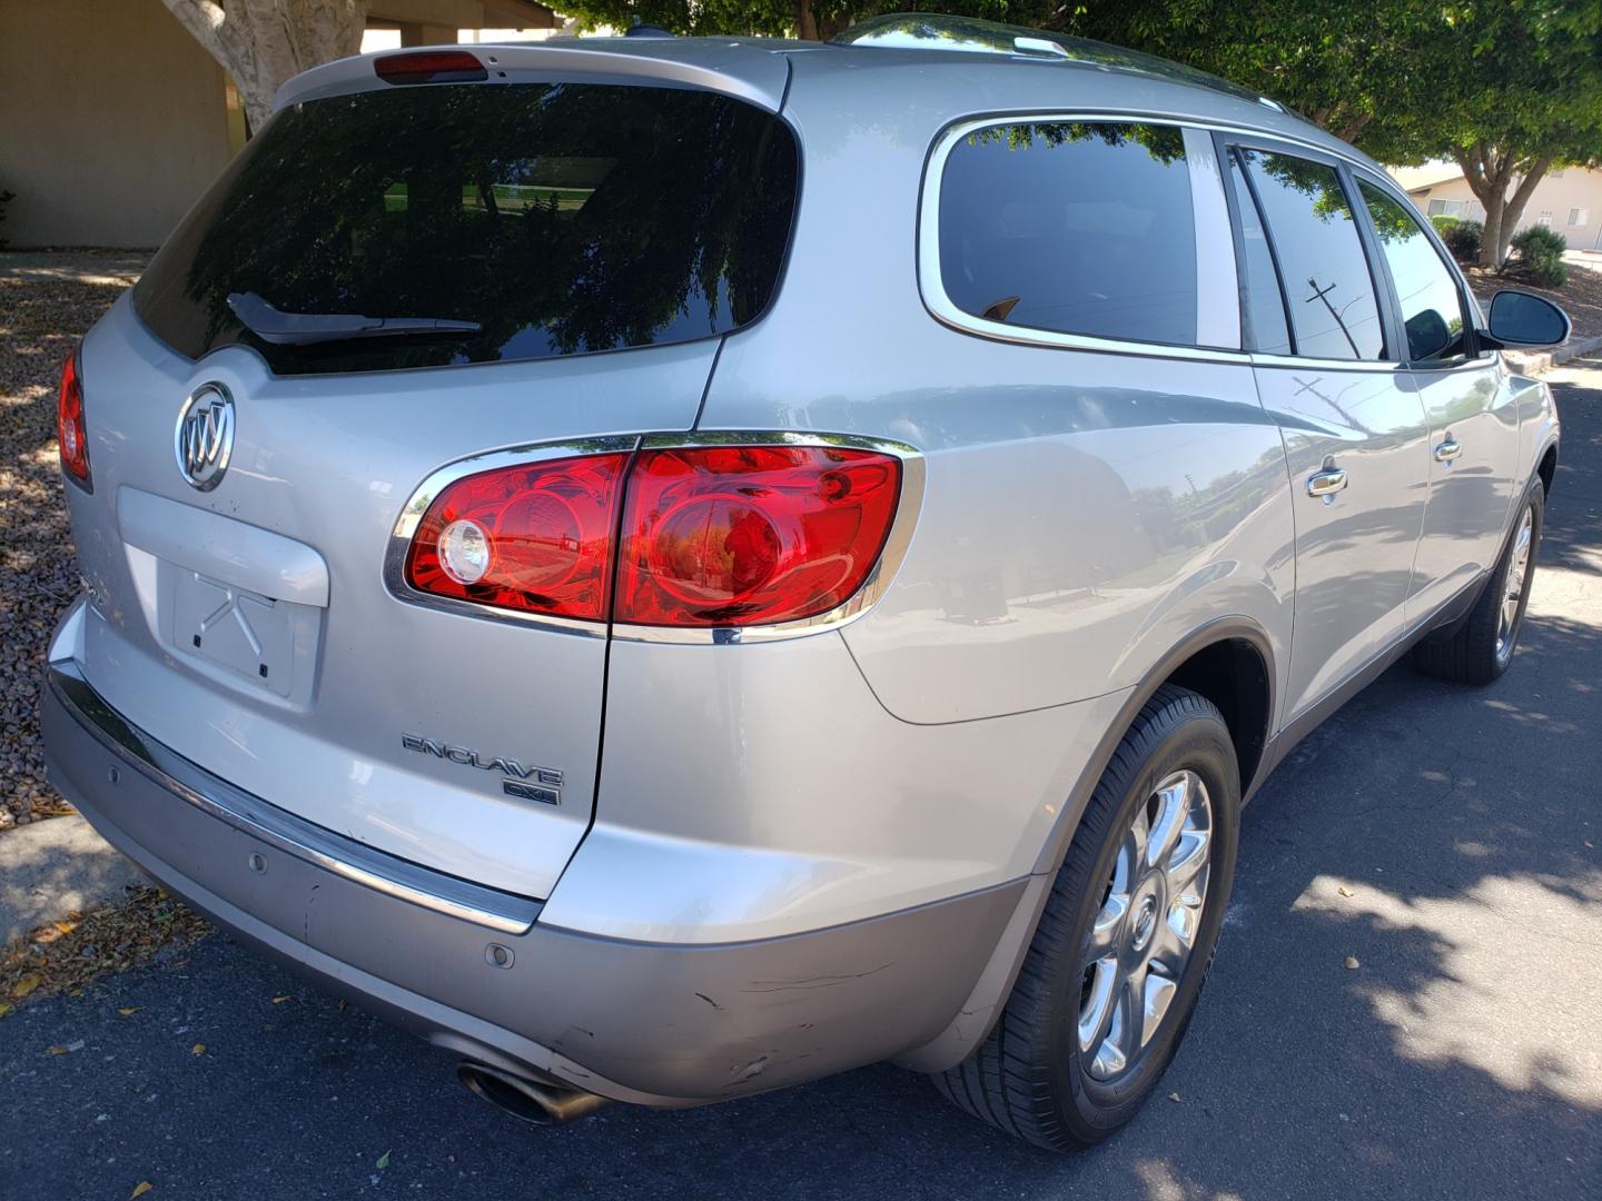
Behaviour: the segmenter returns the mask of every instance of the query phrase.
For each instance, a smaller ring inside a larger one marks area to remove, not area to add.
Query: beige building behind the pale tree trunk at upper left
[[[370,0],[380,43],[561,24],[533,0]],[[394,30],[388,35],[378,30]],[[245,143],[227,77],[162,0],[0,0],[0,237],[155,247]]]

